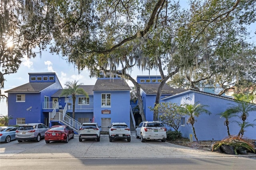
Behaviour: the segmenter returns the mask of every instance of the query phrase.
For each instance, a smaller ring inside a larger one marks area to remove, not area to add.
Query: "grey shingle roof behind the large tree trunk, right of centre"
[[[147,95],[156,95],[158,91],[160,83],[140,83],[140,88],[147,94]],[[162,88],[162,94],[176,94],[185,91],[185,89],[174,89],[167,84],[164,84]]]

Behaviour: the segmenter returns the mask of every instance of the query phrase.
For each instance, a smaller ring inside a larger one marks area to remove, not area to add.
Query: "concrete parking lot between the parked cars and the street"
[[[46,144],[44,139],[40,142],[26,141],[19,143],[14,140],[10,143],[0,144],[0,158],[171,158],[171,157],[236,157],[236,155],[220,154],[204,150],[196,150],[178,146],[168,142],[146,141],[132,133],[131,142],[127,140],[114,140],[109,142],[108,135],[100,136],[96,140],[78,141],[74,139],[64,142],[51,142]]]

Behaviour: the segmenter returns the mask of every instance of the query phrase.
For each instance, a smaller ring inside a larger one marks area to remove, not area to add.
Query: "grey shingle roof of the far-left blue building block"
[[[24,85],[5,91],[5,93],[39,93],[54,83],[55,82],[26,83]]]

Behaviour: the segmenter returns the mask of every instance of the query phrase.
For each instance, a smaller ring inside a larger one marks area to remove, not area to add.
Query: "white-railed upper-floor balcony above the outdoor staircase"
[[[73,104],[72,103],[66,103],[68,105],[67,109],[73,109]],[[60,109],[64,108],[64,106],[59,105],[58,102],[43,102],[42,103],[42,109]],[[93,102],[87,102],[87,103],[75,103],[75,109],[93,109]]]

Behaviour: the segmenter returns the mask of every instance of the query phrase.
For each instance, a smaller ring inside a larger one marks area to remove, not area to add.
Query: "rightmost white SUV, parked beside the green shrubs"
[[[166,142],[166,128],[159,121],[143,121],[136,128],[136,138],[140,138],[141,142],[146,140]]]

